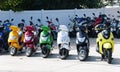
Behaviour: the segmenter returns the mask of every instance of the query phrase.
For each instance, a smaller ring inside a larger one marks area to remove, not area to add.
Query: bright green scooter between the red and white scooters
[[[42,32],[40,34],[39,43],[41,47],[42,57],[47,58],[52,50],[53,37],[50,33],[49,27],[42,26],[41,29]]]

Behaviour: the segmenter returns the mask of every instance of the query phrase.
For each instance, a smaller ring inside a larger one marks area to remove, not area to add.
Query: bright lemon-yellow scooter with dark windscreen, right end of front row
[[[112,62],[112,53],[114,50],[114,36],[110,29],[105,29],[100,32],[96,39],[96,43],[96,51],[101,54],[101,60],[106,60],[110,64]]]

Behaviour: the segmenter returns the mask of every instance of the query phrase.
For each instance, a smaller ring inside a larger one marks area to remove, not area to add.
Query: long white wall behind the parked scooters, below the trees
[[[6,19],[12,19],[14,18],[13,24],[17,25],[20,23],[21,19],[26,20],[26,25],[29,25],[30,17],[33,16],[33,22],[34,24],[39,24],[37,21],[38,18],[41,19],[42,24],[46,23],[46,16],[49,17],[49,19],[52,19],[54,24],[58,24],[55,21],[55,18],[58,17],[61,24],[68,24],[69,18],[68,16],[74,16],[77,14],[79,17],[82,17],[83,14],[86,14],[87,16],[93,17],[92,13],[95,13],[96,16],[99,15],[99,13],[107,14],[113,18],[118,19],[118,13],[120,8],[100,8],[100,9],[71,9],[71,10],[39,10],[39,11],[21,11],[21,12],[13,12],[13,11],[0,11],[0,20],[4,21]]]

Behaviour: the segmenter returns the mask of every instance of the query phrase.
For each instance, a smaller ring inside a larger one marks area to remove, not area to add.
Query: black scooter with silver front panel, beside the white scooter
[[[88,58],[89,54],[89,38],[84,26],[77,26],[76,31],[76,47],[78,59],[80,61],[85,61]]]

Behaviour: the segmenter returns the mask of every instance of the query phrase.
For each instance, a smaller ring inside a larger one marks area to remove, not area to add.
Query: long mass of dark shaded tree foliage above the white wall
[[[0,0],[2,10],[100,8],[103,0]]]

